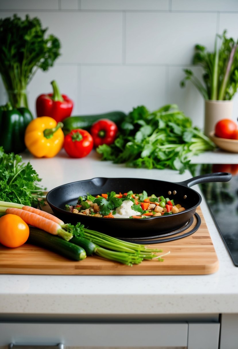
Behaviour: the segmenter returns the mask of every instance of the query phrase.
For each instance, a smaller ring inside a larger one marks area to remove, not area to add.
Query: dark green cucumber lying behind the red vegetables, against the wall
[[[90,130],[92,124],[99,119],[109,119],[117,126],[125,119],[126,114],[122,111],[112,111],[104,114],[96,114],[96,115],[85,115],[85,116],[70,116],[64,119],[62,122],[64,126],[62,130],[64,134],[69,133],[73,129],[82,128],[87,131]]]

